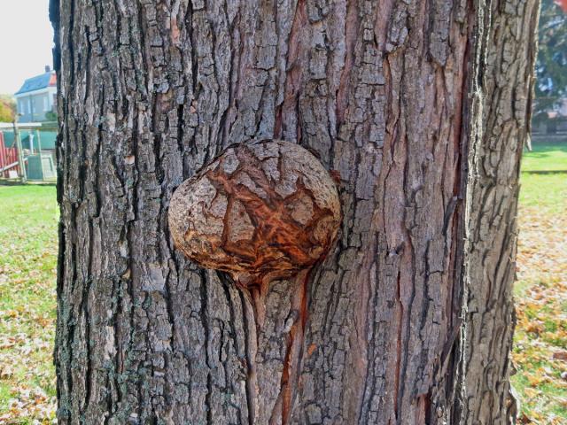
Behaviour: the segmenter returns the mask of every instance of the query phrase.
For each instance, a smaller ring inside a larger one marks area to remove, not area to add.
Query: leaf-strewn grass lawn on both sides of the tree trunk
[[[518,212],[512,383],[520,423],[565,424],[567,143],[533,148],[524,154]],[[0,186],[0,424],[55,416],[57,216],[53,186]]]

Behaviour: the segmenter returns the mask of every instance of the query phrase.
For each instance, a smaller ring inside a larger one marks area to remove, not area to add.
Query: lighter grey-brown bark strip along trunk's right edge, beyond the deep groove
[[[511,424],[520,158],[532,114],[539,1],[479,3],[465,248],[464,417]]]

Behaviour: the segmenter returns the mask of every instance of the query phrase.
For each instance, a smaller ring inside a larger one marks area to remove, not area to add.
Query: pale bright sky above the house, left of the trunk
[[[0,0],[0,94],[53,68],[49,0]]]

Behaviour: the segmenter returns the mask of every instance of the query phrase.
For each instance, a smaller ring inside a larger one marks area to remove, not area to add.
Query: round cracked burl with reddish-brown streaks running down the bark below
[[[296,277],[288,287],[293,308],[274,409],[289,421],[308,319],[309,272],[329,252],[341,220],[330,174],[296,143],[232,145],[175,191],[168,219],[175,246],[200,266],[228,273],[252,305],[248,393],[254,416],[257,394],[265,390],[253,363],[269,283]]]

